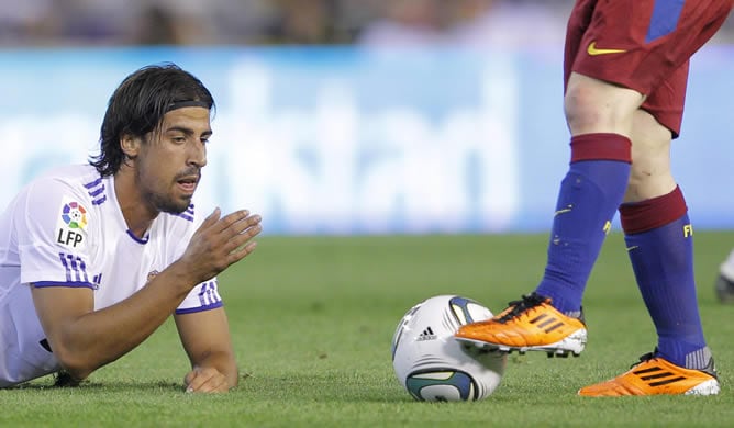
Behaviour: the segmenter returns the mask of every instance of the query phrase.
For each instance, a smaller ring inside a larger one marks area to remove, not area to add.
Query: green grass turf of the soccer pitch
[[[715,397],[582,398],[578,387],[626,370],[655,335],[619,234],[585,300],[580,358],[512,356],[477,403],[413,402],[394,379],[390,340],[425,297],[456,293],[492,311],[531,291],[545,235],[263,237],[220,279],[243,379],[223,395],[181,391],[187,360],[173,324],[78,388],[48,379],[0,390],[0,426],[731,426],[734,306],[712,283],[734,233],[697,233],[699,301],[722,392]]]

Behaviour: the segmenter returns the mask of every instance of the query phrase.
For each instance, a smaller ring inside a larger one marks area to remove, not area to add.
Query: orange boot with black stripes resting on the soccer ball
[[[456,333],[459,341],[503,352],[545,351],[548,357],[578,357],[587,340],[583,315],[567,316],[550,305],[550,299],[536,293],[523,295],[491,319],[464,325]]]

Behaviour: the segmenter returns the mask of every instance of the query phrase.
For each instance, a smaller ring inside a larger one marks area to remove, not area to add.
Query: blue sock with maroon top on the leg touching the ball
[[[630,180],[631,143],[619,134],[571,138],[571,162],[560,184],[545,273],[535,292],[578,316],[586,283]]]

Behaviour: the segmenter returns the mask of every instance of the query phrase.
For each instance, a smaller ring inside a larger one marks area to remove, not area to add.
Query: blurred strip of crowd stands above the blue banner
[[[572,0],[0,1],[2,45],[558,43]],[[716,37],[731,43],[730,21]]]

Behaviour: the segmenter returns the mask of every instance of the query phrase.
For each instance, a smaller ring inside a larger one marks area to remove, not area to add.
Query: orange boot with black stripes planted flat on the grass
[[[654,353],[640,357],[630,371],[607,382],[579,390],[587,397],[619,397],[623,395],[715,395],[719,380],[713,358],[703,370],[686,369]]]

